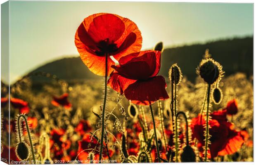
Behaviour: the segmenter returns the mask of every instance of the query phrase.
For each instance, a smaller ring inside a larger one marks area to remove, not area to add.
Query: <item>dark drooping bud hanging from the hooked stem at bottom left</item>
[[[19,142],[15,148],[17,158],[20,160],[27,160],[31,154],[28,144]]]

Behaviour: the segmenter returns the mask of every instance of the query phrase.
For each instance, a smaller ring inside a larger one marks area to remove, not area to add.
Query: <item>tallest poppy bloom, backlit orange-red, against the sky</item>
[[[78,27],[75,44],[84,64],[97,75],[105,75],[105,54],[108,54],[108,75],[114,61],[138,52],[142,37],[137,25],[116,14],[97,13],[85,18]]]

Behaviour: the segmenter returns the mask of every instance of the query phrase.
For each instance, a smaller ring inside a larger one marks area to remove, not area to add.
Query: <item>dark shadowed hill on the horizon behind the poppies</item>
[[[206,44],[185,45],[182,47],[166,48],[161,57],[161,75],[168,76],[170,66],[177,63],[183,75],[192,82],[196,78],[195,68],[201,61],[206,49],[210,50],[212,57],[223,65],[225,75],[237,71],[253,74],[253,38],[234,38],[230,40],[218,40]],[[80,57],[63,58],[52,61],[36,68],[32,72],[46,72],[57,75],[67,82],[102,79],[90,72],[83,64]],[[49,78],[32,76],[36,83],[49,82]]]

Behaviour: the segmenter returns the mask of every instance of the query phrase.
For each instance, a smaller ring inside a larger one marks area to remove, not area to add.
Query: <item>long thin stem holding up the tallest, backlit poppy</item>
[[[105,58],[106,58],[106,63],[105,63],[105,84],[104,84],[104,102],[103,102],[103,109],[102,109],[102,128],[101,128],[101,140],[100,140],[100,162],[101,163],[101,160],[102,160],[102,149],[103,149],[103,138],[104,138],[104,128],[105,128],[105,125],[104,125],[104,115],[105,115],[105,107],[106,107],[106,101],[107,101],[107,59],[108,59],[108,54],[106,53],[105,54]]]

